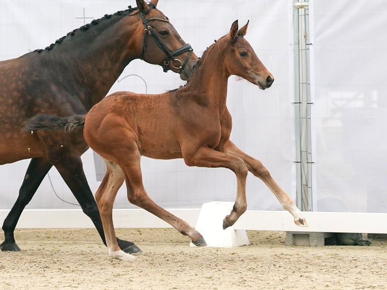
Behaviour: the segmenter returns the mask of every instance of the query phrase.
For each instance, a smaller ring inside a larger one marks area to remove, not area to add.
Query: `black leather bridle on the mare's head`
[[[156,9],[156,7],[154,5],[152,5],[152,4],[149,4],[149,7],[151,7],[151,9],[152,8]],[[165,44],[163,43],[163,41],[161,41],[161,39],[157,35],[157,33],[155,33],[155,31],[153,30],[152,26],[149,24],[149,21],[152,21],[152,20],[169,22],[169,19],[162,19],[162,18],[156,18],[156,17],[152,17],[152,18],[146,19],[144,17],[144,14],[141,11],[139,11],[139,14],[140,14],[140,17],[142,19],[142,23],[144,24],[144,27],[145,27],[145,29],[144,29],[144,41],[143,41],[143,44],[142,44],[141,60],[144,57],[144,53],[145,53],[145,50],[146,50],[147,35],[149,34],[155,40],[155,42],[159,46],[159,48],[167,55],[167,57],[164,60],[164,65],[163,65],[164,72],[167,72],[170,69],[169,65],[171,65],[173,68],[179,70],[178,71],[179,74],[184,73],[184,75],[187,78],[189,78],[187,73],[184,71],[184,68],[185,68],[185,65],[188,62],[189,57],[192,54],[192,51],[193,51],[191,45],[189,43],[187,43],[187,44],[183,45],[182,47],[180,47],[180,49],[177,49],[177,50],[175,50],[173,52],[170,52],[167,49],[167,47],[165,46]],[[179,59],[175,59],[174,58],[175,56],[181,55],[181,54],[183,54],[185,52],[189,52],[189,53],[188,53],[188,56],[186,57],[184,63],[182,61],[180,61]]]

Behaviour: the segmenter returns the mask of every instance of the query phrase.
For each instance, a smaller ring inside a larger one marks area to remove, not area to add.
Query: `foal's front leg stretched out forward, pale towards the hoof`
[[[249,171],[252,172],[258,178],[260,178],[270,188],[270,190],[273,192],[274,196],[278,199],[282,207],[293,215],[294,222],[299,226],[308,226],[305,220],[305,217],[297,208],[296,204],[285,193],[285,191],[283,191],[283,189],[275,182],[273,177],[271,177],[270,172],[265,168],[265,166],[262,165],[262,163],[259,160],[241,151],[230,140],[228,140],[224,144],[223,151],[225,153],[232,154],[234,156],[241,158],[245,162]]]

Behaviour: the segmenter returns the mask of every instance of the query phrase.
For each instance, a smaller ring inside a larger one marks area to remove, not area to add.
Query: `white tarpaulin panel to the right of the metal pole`
[[[312,4],[314,208],[386,213],[387,2]]]

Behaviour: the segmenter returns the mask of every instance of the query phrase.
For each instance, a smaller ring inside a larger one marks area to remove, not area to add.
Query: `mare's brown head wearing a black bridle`
[[[191,46],[180,37],[168,17],[156,9],[158,0],[149,4],[136,0],[136,3],[142,22],[134,32],[140,39],[136,42],[140,58],[162,66],[164,72],[172,70],[179,73],[181,79],[188,79],[198,61]]]

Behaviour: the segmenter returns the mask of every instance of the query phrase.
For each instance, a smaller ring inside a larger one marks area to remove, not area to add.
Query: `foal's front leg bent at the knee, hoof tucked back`
[[[232,154],[219,152],[209,147],[202,147],[199,150],[192,150],[189,146],[183,150],[183,158],[188,166],[199,167],[225,167],[231,169],[236,175],[236,198],[233,209],[223,220],[223,229],[233,225],[238,218],[246,211],[246,178],[248,168],[244,161]]]

